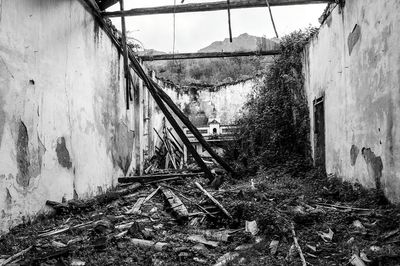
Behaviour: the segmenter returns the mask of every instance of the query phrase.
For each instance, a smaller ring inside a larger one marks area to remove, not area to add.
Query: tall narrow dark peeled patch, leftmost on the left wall
[[[28,150],[28,130],[24,122],[20,121],[18,126],[18,140],[17,140],[17,182],[22,187],[29,185],[29,150]]]

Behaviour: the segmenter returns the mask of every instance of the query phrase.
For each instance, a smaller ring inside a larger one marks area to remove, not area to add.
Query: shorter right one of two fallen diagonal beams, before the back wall
[[[228,163],[226,163],[207,143],[204,139],[203,135],[199,132],[199,130],[190,122],[190,120],[185,116],[185,114],[174,104],[172,99],[166,94],[158,84],[154,83],[155,88],[157,89],[157,93],[160,95],[162,100],[171,108],[171,110],[179,117],[179,119],[187,126],[187,128],[192,132],[192,134],[196,137],[196,139],[200,142],[200,144],[207,150],[207,152],[229,173],[235,175],[235,171],[230,167]],[[185,135],[186,137],[186,135]],[[192,147],[192,146],[191,146]]]

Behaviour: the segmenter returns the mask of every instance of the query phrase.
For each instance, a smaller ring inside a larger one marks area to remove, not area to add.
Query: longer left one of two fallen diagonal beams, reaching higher
[[[134,67],[134,71],[144,81],[144,83],[147,86],[147,89],[151,93],[151,96],[153,97],[154,101],[157,103],[158,107],[160,107],[161,111],[164,113],[168,122],[175,129],[176,133],[178,133],[179,138],[183,141],[183,143],[188,148],[189,152],[192,154],[193,158],[196,160],[197,164],[204,171],[206,178],[209,179],[210,181],[212,181],[214,179],[214,176],[212,175],[210,169],[208,169],[207,165],[204,163],[203,159],[201,159],[200,155],[193,148],[189,139],[186,137],[185,133],[183,133],[178,122],[176,122],[176,120],[174,119],[172,114],[169,112],[168,108],[165,106],[163,100],[160,98],[159,94],[157,93],[157,89],[155,87],[156,83],[147,76],[147,74],[144,72],[142,66],[139,64],[139,62],[136,60],[136,58],[133,54],[130,54],[130,59],[131,59],[132,65]]]

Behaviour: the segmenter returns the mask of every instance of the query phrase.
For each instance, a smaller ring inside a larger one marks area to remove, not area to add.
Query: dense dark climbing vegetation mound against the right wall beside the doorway
[[[309,115],[301,54],[316,32],[308,28],[282,38],[281,54],[249,96],[237,120],[237,141],[227,149],[226,156],[238,167],[256,171],[288,159],[308,160]]]

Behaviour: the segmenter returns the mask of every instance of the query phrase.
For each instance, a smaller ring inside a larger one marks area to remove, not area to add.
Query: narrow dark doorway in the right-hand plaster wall
[[[325,108],[324,98],[314,100],[314,162],[325,169]]]

